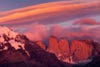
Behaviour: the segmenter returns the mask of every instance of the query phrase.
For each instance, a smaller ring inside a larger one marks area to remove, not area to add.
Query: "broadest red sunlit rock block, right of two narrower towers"
[[[73,40],[71,56],[73,61],[81,62],[92,58],[93,46],[84,40]]]

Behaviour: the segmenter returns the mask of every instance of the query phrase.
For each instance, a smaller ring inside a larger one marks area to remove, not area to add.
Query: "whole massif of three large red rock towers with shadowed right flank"
[[[61,38],[59,41],[56,37],[50,37],[49,52],[52,51],[60,60],[72,64],[88,63],[92,57],[99,56],[100,45],[93,40],[72,40],[71,44],[67,39]]]

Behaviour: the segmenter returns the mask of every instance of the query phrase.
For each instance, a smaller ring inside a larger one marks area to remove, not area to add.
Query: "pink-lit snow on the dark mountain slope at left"
[[[8,38],[10,38],[10,40],[5,41],[3,35],[6,35]],[[0,26],[0,43],[5,44],[5,43],[9,42],[11,44],[11,46],[13,48],[15,48],[15,50],[18,50],[18,49],[25,50],[25,44],[24,43],[15,41],[17,35],[18,35],[18,33],[12,31],[12,29]],[[0,51],[7,50],[7,49],[8,49],[8,47],[4,46],[4,48],[0,49]],[[25,50],[25,52],[28,56],[30,56],[28,51]]]

